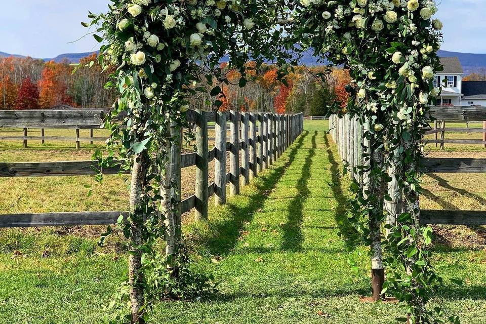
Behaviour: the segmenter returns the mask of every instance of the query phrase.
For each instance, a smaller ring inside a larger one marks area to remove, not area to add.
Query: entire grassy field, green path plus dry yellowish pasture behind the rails
[[[357,256],[361,270],[351,269],[337,235],[346,224],[348,183],[339,177],[342,167],[325,132],[327,121],[306,121],[304,128],[273,168],[241,195],[229,198],[223,207],[210,207],[208,223],[195,224],[185,215],[192,266],[213,273],[219,293],[196,302],[161,302],[154,308],[153,322],[388,324],[402,314],[394,304],[359,301],[371,293],[368,258],[366,253]],[[446,134],[451,136],[481,135]],[[0,160],[89,159],[96,145],[101,144],[82,143],[82,150],[75,150],[74,142],[47,142],[23,149],[21,141],[0,142]],[[446,144],[444,151],[430,146],[430,156],[486,155],[480,145]],[[183,172],[184,194],[194,187],[191,172]],[[125,179],[107,176],[87,197],[83,185],[94,184],[91,177],[0,178],[0,214],[124,209]],[[484,210],[485,183],[484,174],[426,175],[421,206]],[[105,319],[109,314],[103,306],[126,275],[127,255],[121,239],[97,247],[103,229],[0,230],[0,323]],[[445,278],[444,306],[459,314],[462,323],[484,323],[486,231],[436,226],[435,232],[433,263]],[[453,284],[452,278],[462,279],[464,285]]]

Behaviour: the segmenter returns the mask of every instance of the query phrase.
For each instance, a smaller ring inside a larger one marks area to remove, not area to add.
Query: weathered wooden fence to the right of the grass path
[[[486,107],[431,107],[431,114],[439,120],[451,121],[482,121],[486,120]],[[364,126],[366,127],[366,126]],[[363,125],[356,118],[345,115],[330,118],[331,135],[337,144],[340,157],[349,164],[349,170],[363,164]],[[426,158],[421,161],[424,173],[483,173],[486,172],[486,158]],[[389,170],[390,176],[393,170]],[[356,175],[352,172],[350,176]],[[392,177],[394,179],[394,177]],[[388,195],[392,201],[385,202],[385,209],[389,211],[387,222],[393,223],[399,214],[400,193],[397,184],[388,184]],[[449,225],[486,225],[486,211],[457,211],[457,210],[420,210],[420,220],[424,224]]]

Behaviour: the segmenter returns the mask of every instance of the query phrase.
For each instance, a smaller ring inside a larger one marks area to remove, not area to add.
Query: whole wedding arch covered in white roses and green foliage
[[[431,78],[441,69],[436,10],[433,0],[112,0],[108,13],[90,13],[84,25],[96,26],[95,38],[104,42],[99,62],[117,66],[107,87],[120,93],[106,122],[110,154],[98,154],[100,165],[116,152],[132,172],[130,223],[124,228],[131,239],[130,278],[121,297],[130,310],[120,306],[117,320],[144,323],[154,298],[154,269],[165,264],[158,271],[173,276],[181,270],[169,195],[171,127],[177,133],[185,126],[189,98],[205,91],[201,79],[216,81],[211,95],[223,95],[217,84],[228,80],[221,58],[242,72],[239,84],[245,86],[246,62],[275,62],[282,77],[313,48],[320,60],[349,68],[346,110],[367,126],[365,163],[353,170],[362,180],[351,186],[354,229],[343,237],[349,246],[358,241],[371,247],[374,296],[391,293],[413,322],[437,322],[442,310],[426,305],[441,279],[429,263],[431,229],[418,222],[417,194],[427,105],[438,92]],[[383,199],[390,198],[384,193],[389,168],[404,204],[385,237],[380,226],[387,214]],[[165,255],[156,252],[160,239],[167,241]]]

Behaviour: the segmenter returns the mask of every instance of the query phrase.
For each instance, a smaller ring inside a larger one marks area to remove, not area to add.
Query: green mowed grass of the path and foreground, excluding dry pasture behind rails
[[[277,163],[227,205],[211,207],[207,223],[185,222],[192,267],[213,273],[219,292],[157,303],[153,323],[388,324],[403,315],[395,304],[359,301],[371,293],[369,262],[360,248],[353,270],[337,235],[346,225],[348,182],[327,128],[306,121]],[[106,319],[103,306],[126,275],[127,255],[119,239],[105,249],[96,240],[79,229],[0,231],[0,323]],[[434,248],[446,279],[441,300],[463,323],[486,321],[483,248]]]

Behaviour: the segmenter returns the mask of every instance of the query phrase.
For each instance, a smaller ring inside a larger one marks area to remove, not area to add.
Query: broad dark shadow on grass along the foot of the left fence
[[[242,202],[242,197],[235,196],[229,198],[225,206],[216,208],[215,214],[221,214],[223,217],[217,216],[210,220],[210,231],[198,238],[210,254],[224,255],[234,248],[245,223],[251,221],[254,213],[263,207],[270,190],[276,186],[285,170],[294,162],[308,133],[304,131],[294,145],[288,148],[289,155],[284,164],[258,176],[260,179],[255,182],[255,190],[245,195],[246,201]],[[229,217],[225,217],[225,214]]]

